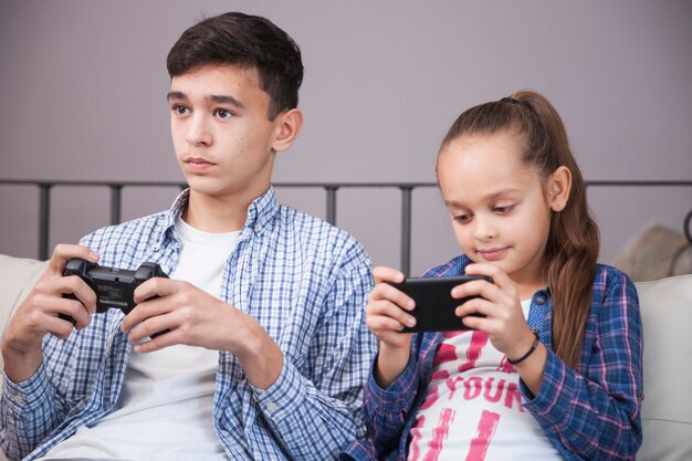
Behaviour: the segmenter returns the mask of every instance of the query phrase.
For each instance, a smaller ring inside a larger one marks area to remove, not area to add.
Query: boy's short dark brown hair
[[[171,78],[208,64],[256,69],[260,88],[270,96],[270,119],[297,107],[301,49],[265,18],[240,12],[207,18],[182,32],[168,53]]]

